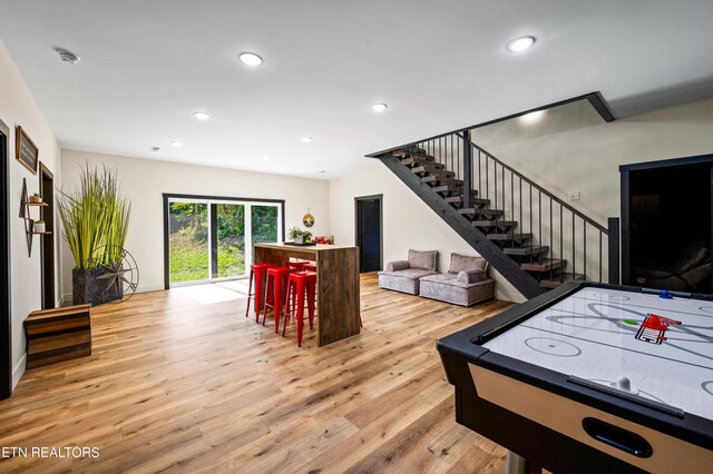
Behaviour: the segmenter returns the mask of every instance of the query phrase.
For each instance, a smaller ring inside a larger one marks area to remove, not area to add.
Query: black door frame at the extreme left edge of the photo
[[[10,129],[0,120],[0,399],[12,394],[9,172]]]

